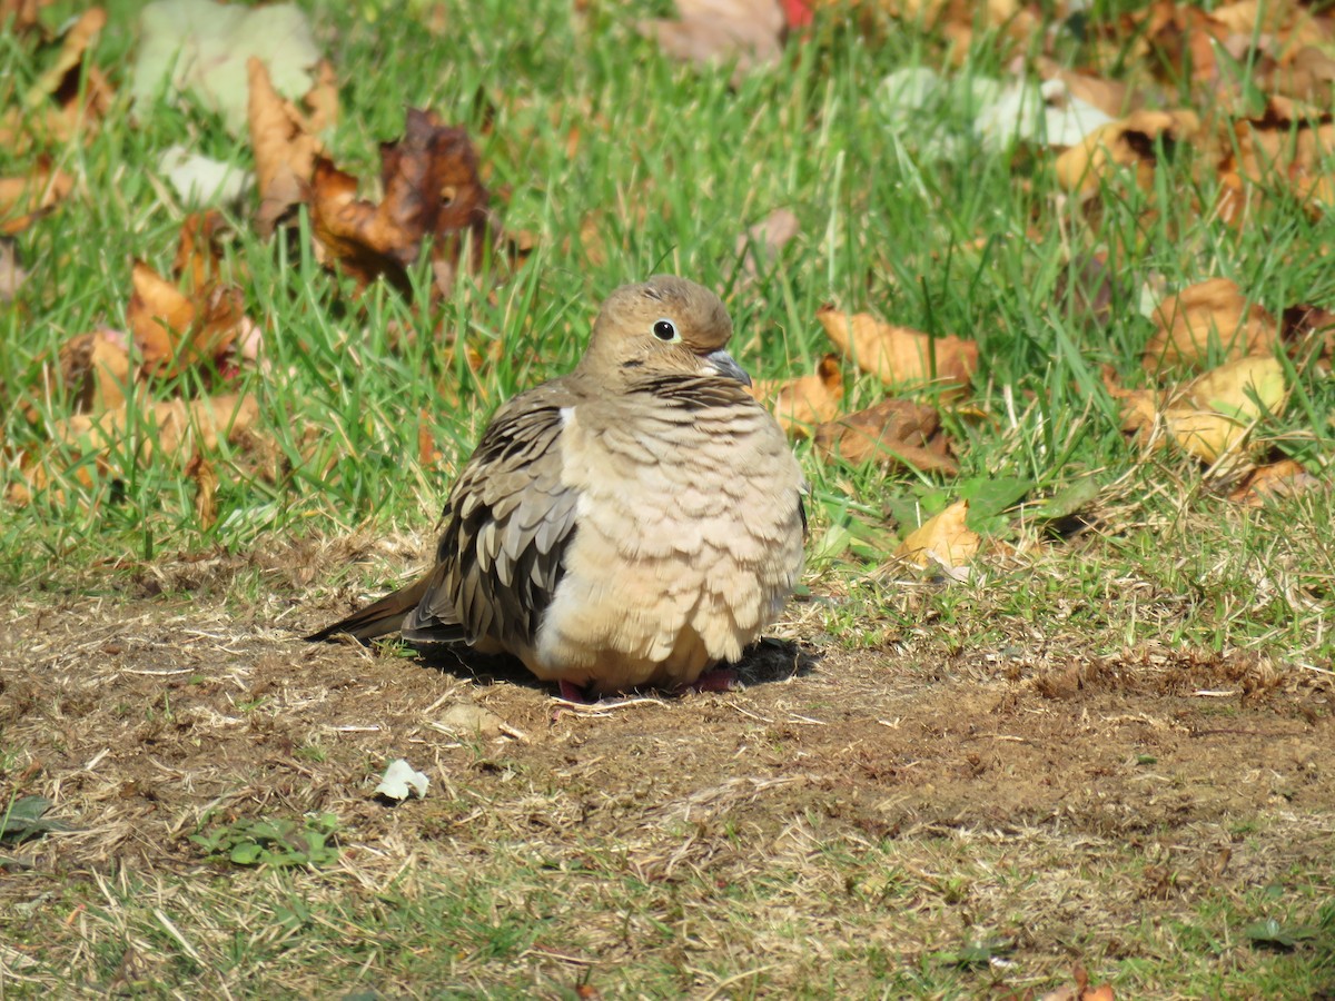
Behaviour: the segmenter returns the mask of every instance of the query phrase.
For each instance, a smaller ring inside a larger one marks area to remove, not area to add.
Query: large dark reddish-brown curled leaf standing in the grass
[[[354,176],[316,159],[311,224],[320,260],[359,287],[384,276],[407,291],[407,267],[431,236],[435,287],[447,294],[465,246],[471,244],[467,267],[475,272],[495,235],[467,132],[441,124],[434,112],[409,108],[403,139],[383,143],[380,161],[384,196],[376,204],[356,198]]]

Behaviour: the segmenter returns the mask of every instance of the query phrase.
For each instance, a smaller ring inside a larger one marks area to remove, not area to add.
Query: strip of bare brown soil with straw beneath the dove
[[[770,642],[745,665],[741,691],[569,709],[522,673],[474,678],[298,639],[346,602],[264,598],[239,618],[218,598],[152,594],[162,583],[0,603],[4,791],[49,797],[76,827],[0,853],[11,864],[0,914],[11,909],[11,920],[16,905],[53,890],[59,900],[55,885],[71,873],[128,868],[160,881],[207,870],[188,841],[206,817],[323,810],[340,819],[344,869],[376,878],[402,878],[427,857],[485,868],[501,845],[522,844],[561,873],[614,854],[646,885],[682,869],[721,888],[745,884],[768,857],[802,884],[836,846],[854,862],[825,868],[804,897],[821,888],[857,902],[812,904],[828,918],[800,930],[816,956],[837,960],[848,928],[862,928],[912,962],[977,926],[1008,938],[1039,982],[1072,958],[1144,953],[1135,929],[1185,920],[1207,890],[1242,894],[1315,872],[1328,892],[1335,869],[1335,686],[1255,655],[1099,657],[1051,638],[956,655]],[[810,634],[810,618],[798,606],[780,631]],[[427,799],[391,809],[371,795],[396,757],[431,777]],[[984,857],[1028,878],[997,882],[961,862],[952,884],[952,858]],[[906,880],[896,905],[905,920],[890,928],[894,869]],[[866,890],[876,880],[880,918]],[[756,914],[794,906],[773,886],[753,904]],[[953,912],[963,917],[943,917]],[[578,956],[539,942],[510,962],[506,982],[569,982],[567,968],[587,964],[609,990],[606,964],[631,954],[625,920],[585,914]],[[61,925],[61,976],[105,985],[105,960],[72,941],[80,924],[53,924],[57,937]],[[191,936],[199,950],[210,941]],[[730,969],[728,949],[710,953],[708,938],[696,948],[716,966],[702,960],[682,974],[682,993],[706,996]],[[753,945],[773,958],[754,981],[760,994],[816,990],[796,946]],[[0,969],[12,985],[49,985],[47,966],[24,972],[39,953],[11,949]],[[135,962],[154,968],[147,956]],[[463,962],[459,982],[483,989],[494,982],[485,969]],[[314,986],[306,976],[284,985]],[[417,993],[410,974],[394,976]]]

